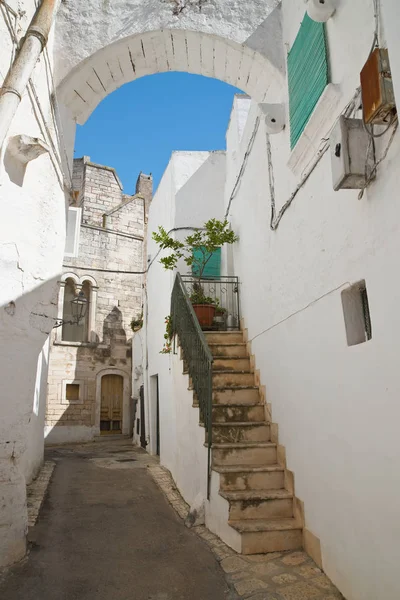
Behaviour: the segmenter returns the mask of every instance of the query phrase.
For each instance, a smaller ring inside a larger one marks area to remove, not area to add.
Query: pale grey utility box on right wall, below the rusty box
[[[333,189],[362,189],[374,166],[374,145],[362,120],[340,116],[329,143]]]

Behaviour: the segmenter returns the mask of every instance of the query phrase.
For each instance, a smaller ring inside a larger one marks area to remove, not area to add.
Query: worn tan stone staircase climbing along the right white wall
[[[229,503],[228,523],[241,535],[243,554],[301,548],[295,498],[285,488],[243,333],[205,335],[214,356],[212,469]]]

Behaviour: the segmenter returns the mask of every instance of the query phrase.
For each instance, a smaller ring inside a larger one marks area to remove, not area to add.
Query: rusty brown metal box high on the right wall
[[[386,48],[375,48],[361,73],[364,122],[385,125],[396,108]]]

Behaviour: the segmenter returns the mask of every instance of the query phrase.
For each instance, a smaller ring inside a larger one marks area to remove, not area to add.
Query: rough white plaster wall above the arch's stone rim
[[[257,29],[278,4],[278,0],[250,0],[244,5],[237,0],[185,2],[185,9],[174,14],[174,0],[136,0],[112,2],[88,0],[85,11],[78,0],[61,6],[57,19],[58,77],[62,78],[81,61],[96,51],[132,35],[157,30],[199,31],[243,44],[251,36],[249,46],[265,51],[265,40]],[[263,31],[261,31],[263,33]],[[274,36],[271,34],[271,42]],[[259,39],[260,38],[260,39]],[[255,47],[256,46],[256,47]],[[268,46],[267,46],[268,47]],[[157,48],[149,52],[154,55]],[[271,43],[272,60],[276,61]],[[151,56],[148,57],[148,61]]]

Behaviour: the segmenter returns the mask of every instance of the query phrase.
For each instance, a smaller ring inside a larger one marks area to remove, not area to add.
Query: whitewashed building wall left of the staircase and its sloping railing
[[[148,253],[153,260],[157,246],[151,234],[162,225],[167,231],[176,227],[201,227],[205,220],[220,218],[223,212],[225,178],[223,152],[174,152],[153,198],[148,222]],[[190,231],[174,235],[185,237]],[[161,463],[172,473],[181,493],[191,503],[206,485],[207,454],[204,429],[198,424],[198,410],[192,407],[187,376],[177,356],[160,354],[165,333],[164,319],[170,314],[171,291],[175,274],[164,271],[160,255],[147,277],[148,368],[144,365],[147,432],[149,450],[156,451],[156,398],[150,378],[158,375],[160,406]],[[182,273],[187,272],[183,263]],[[205,461],[205,462],[204,462]]]

